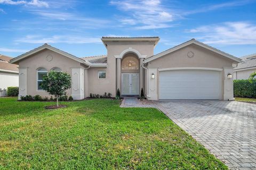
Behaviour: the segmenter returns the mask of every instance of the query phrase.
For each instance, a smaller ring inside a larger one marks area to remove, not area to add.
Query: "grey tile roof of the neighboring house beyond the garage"
[[[235,67],[234,70],[256,67],[256,53],[242,56],[241,59],[243,61],[241,63],[238,63],[237,67]]]

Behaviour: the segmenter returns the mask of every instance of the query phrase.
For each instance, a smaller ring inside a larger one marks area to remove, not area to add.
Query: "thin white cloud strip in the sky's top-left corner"
[[[0,0],[0,4],[8,5],[28,5],[28,6],[37,6],[37,7],[49,7],[49,4],[45,1],[31,0],[31,1],[12,1],[12,0]]]

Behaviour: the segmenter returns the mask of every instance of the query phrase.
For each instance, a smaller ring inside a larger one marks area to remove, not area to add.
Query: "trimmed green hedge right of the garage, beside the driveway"
[[[256,98],[256,80],[234,80],[234,96]]]

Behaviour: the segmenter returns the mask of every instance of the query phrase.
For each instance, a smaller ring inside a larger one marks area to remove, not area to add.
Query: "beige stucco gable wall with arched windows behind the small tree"
[[[46,60],[46,56],[48,55],[53,56],[50,62]],[[27,67],[27,95],[40,95],[45,97],[49,96],[46,91],[37,90],[37,69],[39,67],[44,67],[48,72],[50,72],[53,67],[60,67],[62,72],[67,72],[71,75],[72,68],[85,68],[87,66],[71,60],[66,56],[52,52],[49,49],[45,49],[20,61],[19,67]],[[67,95],[71,95],[71,89],[67,90]]]

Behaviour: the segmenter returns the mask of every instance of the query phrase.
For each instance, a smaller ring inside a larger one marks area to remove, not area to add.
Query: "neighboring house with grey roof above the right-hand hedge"
[[[234,68],[234,79],[248,79],[250,75],[256,72],[256,53],[241,57],[242,62]]]

